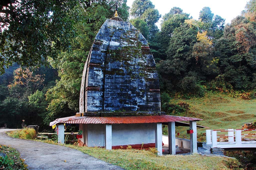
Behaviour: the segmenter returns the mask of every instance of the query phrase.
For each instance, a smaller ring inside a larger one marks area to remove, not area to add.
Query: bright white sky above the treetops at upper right
[[[132,7],[134,0],[127,0],[127,5]],[[226,19],[226,24],[233,18],[240,15],[249,0],[151,0],[163,16],[174,6],[183,9],[183,12],[190,14],[194,19],[198,19],[200,10],[208,6],[214,15],[219,15]],[[157,23],[159,27],[160,22]]]

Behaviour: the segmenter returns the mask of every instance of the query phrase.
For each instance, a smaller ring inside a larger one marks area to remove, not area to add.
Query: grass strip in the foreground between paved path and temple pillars
[[[220,156],[164,155],[135,149],[105,150],[103,148],[66,145],[83,153],[120,166],[127,170],[167,170],[167,169],[230,169],[230,165],[240,165],[236,159]]]

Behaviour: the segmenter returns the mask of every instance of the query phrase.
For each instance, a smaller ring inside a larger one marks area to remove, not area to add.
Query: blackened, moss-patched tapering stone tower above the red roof
[[[130,22],[107,19],[84,66],[80,112],[160,111],[156,65]]]

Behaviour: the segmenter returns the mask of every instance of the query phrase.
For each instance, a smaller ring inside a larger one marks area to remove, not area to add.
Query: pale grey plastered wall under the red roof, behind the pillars
[[[88,147],[105,146],[105,124],[83,124]],[[86,128],[86,129],[85,129]],[[112,124],[112,146],[155,143],[154,123]]]

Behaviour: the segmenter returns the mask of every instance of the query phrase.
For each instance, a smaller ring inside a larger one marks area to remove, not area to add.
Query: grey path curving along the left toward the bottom
[[[123,170],[119,166],[101,161],[88,154],[65,146],[9,137],[5,133],[5,131],[9,130],[0,129],[0,144],[17,149],[21,157],[26,160],[25,163],[29,169]]]

